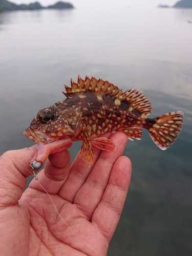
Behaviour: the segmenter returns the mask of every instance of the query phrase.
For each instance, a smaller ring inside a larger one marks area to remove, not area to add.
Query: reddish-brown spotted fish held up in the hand
[[[152,104],[137,88],[122,92],[108,79],[86,75],[83,80],[80,74],[77,83],[71,77],[71,87],[66,83],[64,86],[66,92],[62,93],[66,99],[39,110],[23,132],[37,144],[37,161],[43,162],[49,154],[80,140],[80,154],[91,165],[93,146],[114,151],[114,143],[102,135],[115,131],[124,133],[130,140],[140,140],[142,129],[146,129],[155,144],[166,150],[181,132],[183,112],[174,111],[148,118]]]

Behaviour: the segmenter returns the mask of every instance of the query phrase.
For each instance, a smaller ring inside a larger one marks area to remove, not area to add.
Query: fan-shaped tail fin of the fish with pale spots
[[[158,116],[155,118],[156,123],[153,127],[148,130],[152,140],[155,144],[161,148],[161,150],[166,150],[180,134],[183,126],[183,112],[175,111]]]

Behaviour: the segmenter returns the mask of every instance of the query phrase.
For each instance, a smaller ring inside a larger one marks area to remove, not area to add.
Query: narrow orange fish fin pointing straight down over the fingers
[[[93,157],[94,157],[94,151],[93,151],[91,142],[89,141],[89,139],[86,136],[84,136],[84,139],[82,141],[80,154],[82,156],[82,159],[86,163],[89,163],[89,165],[92,164]]]

